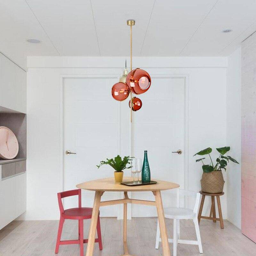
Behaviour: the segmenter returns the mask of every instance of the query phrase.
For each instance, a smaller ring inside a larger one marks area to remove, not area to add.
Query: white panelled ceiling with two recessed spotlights
[[[255,13],[255,0],[1,0],[0,51],[23,68],[27,56],[125,56],[134,19],[134,56],[227,56]]]

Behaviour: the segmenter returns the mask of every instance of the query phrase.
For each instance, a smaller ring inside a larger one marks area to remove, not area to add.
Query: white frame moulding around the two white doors
[[[153,69],[153,68],[152,68]],[[102,71],[102,69],[99,69],[99,71]],[[116,81],[119,80],[120,74],[104,74],[104,73],[98,73],[98,74],[61,74],[60,75],[60,168],[62,169],[62,190],[64,190],[64,184],[65,184],[65,165],[64,165],[64,82],[65,78],[100,78],[100,77],[108,77],[108,78],[114,78]],[[183,184],[184,188],[188,190],[188,114],[189,114],[189,89],[190,89],[190,74],[177,74],[171,72],[171,70],[168,70],[168,72],[165,72],[164,74],[155,73],[152,74],[151,77],[163,77],[163,78],[183,78],[184,80],[184,145],[183,145],[183,153],[184,153],[184,168],[183,168]],[[119,103],[119,109],[120,109],[120,103]],[[119,111],[120,114],[120,111]],[[127,118],[129,120],[129,118]],[[120,131],[119,131],[119,140],[120,140]],[[128,143],[128,152],[132,153],[132,124],[129,125],[129,143]],[[118,143],[118,152],[119,154],[121,151],[120,148],[120,141]],[[123,198],[123,195],[120,193],[120,198]],[[185,200],[185,207],[188,205],[188,198]],[[131,204],[127,205],[127,219],[132,218],[132,209]],[[123,207],[119,205],[119,211],[117,213],[117,219],[123,219]]]

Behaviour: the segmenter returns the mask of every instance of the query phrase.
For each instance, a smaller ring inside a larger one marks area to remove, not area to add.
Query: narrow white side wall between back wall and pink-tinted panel
[[[227,219],[241,228],[241,48],[228,57],[227,146],[240,163],[227,170]]]

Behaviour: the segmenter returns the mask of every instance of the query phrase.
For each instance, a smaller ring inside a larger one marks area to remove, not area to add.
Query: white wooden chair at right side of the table
[[[194,210],[188,208],[180,208],[180,195],[196,197]],[[200,230],[197,220],[197,212],[199,208],[200,193],[189,190],[177,189],[177,207],[164,208],[164,217],[173,219],[173,239],[168,239],[169,243],[173,243],[173,256],[177,256],[177,244],[197,244],[199,252],[203,253]],[[196,228],[197,240],[183,240],[180,239],[180,220],[193,220]],[[160,238],[159,222],[157,220],[156,231],[156,249],[158,249]]]

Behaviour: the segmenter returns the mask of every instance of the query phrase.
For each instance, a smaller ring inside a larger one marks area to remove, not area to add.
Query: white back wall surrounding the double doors
[[[56,193],[63,189],[61,75],[121,74],[124,60],[125,57],[28,57],[25,219],[59,218]],[[193,154],[209,146],[226,146],[227,58],[136,57],[133,63],[154,74],[188,75],[187,182],[188,189],[200,190],[202,170]],[[111,84],[109,92],[110,88]],[[221,203],[226,218],[226,194],[221,197]],[[209,211],[209,204],[205,210]]]

